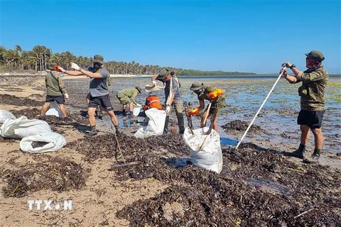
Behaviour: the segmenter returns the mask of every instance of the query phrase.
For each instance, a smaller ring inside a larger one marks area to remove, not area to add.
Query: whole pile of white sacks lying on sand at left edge
[[[46,121],[28,120],[26,116],[16,118],[11,112],[0,110],[0,135],[4,138],[21,138],[20,149],[28,153],[45,153],[60,150],[66,145],[63,135],[53,133]],[[43,144],[33,148],[33,142]]]

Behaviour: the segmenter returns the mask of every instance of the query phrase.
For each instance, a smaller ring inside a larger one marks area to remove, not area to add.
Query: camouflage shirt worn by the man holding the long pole
[[[305,111],[322,111],[325,109],[325,86],[328,81],[328,72],[323,66],[315,70],[305,70],[296,83],[302,82],[298,88],[301,96],[301,109]]]

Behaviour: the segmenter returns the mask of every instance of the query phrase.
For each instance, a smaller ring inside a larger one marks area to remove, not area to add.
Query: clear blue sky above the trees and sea
[[[341,72],[340,0],[4,1],[0,45],[142,65],[277,73],[320,50]]]

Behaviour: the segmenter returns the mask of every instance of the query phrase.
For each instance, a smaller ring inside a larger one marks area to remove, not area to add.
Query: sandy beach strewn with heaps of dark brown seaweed
[[[87,79],[64,77],[76,78]],[[38,117],[45,99],[43,76],[1,77],[0,88],[1,110],[16,117]],[[131,125],[118,136],[118,147],[111,129],[103,125],[99,135],[86,138],[82,128],[87,127],[87,118],[80,114],[86,104],[77,91],[67,103],[72,122],[46,118],[51,129],[67,140],[61,150],[31,155],[20,150],[20,140],[0,137],[0,226],[340,224],[341,158],[337,153],[325,157],[335,162],[331,167],[328,162],[307,165],[276,154],[296,144],[265,149],[255,145],[254,138],[254,143],[241,146],[242,157],[229,146],[222,147],[220,175],[193,165],[174,168],[169,162],[188,158],[190,150],[176,133],[138,140],[131,137],[136,131]],[[114,98],[112,104],[115,110],[121,108]],[[265,141],[266,146],[271,145]],[[126,162],[139,164],[109,171],[112,164],[122,163],[115,160],[119,149]],[[72,200],[73,209],[30,211],[28,200],[35,199]]]

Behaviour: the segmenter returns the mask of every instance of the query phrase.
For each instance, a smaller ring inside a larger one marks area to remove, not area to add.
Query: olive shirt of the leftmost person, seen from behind
[[[63,96],[67,94],[63,77],[55,71],[50,71],[45,75],[45,84],[47,88],[47,95]]]

